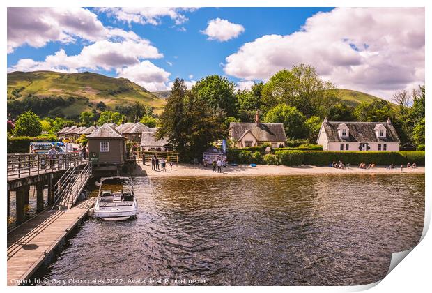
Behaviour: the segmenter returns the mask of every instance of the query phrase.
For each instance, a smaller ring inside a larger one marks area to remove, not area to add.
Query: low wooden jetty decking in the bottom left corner
[[[8,233],[8,285],[30,278],[94,204],[94,198],[72,209],[47,210]]]

